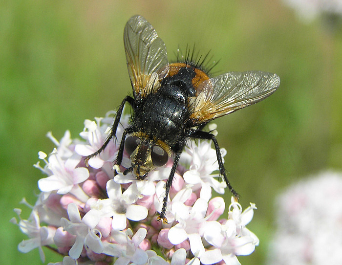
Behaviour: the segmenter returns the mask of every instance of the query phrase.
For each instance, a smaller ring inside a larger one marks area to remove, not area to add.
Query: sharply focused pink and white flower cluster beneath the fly
[[[218,181],[215,150],[206,141],[190,142],[174,176],[166,217],[156,221],[162,208],[166,179],[172,161],[149,173],[144,180],[120,173],[130,166],[125,153],[119,174],[113,161],[118,145],[107,148],[85,164],[84,157],[97,151],[107,137],[115,112],[105,118],[85,121],[83,140],[71,139],[67,131],[50,155],[39,152],[35,167],[47,177],[38,181],[41,194],[28,220],[15,209],[21,231],[29,239],[19,244],[21,252],[43,246],[64,256],[56,265],[185,265],[239,264],[237,255],[251,254],[258,238],[246,228],[255,205],[242,211],[233,198],[226,219],[221,197],[225,183]],[[116,136],[121,138],[128,116],[123,115]],[[221,150],[225,155],[225,150]],[[52,264],[51,264],[52,265]]]

